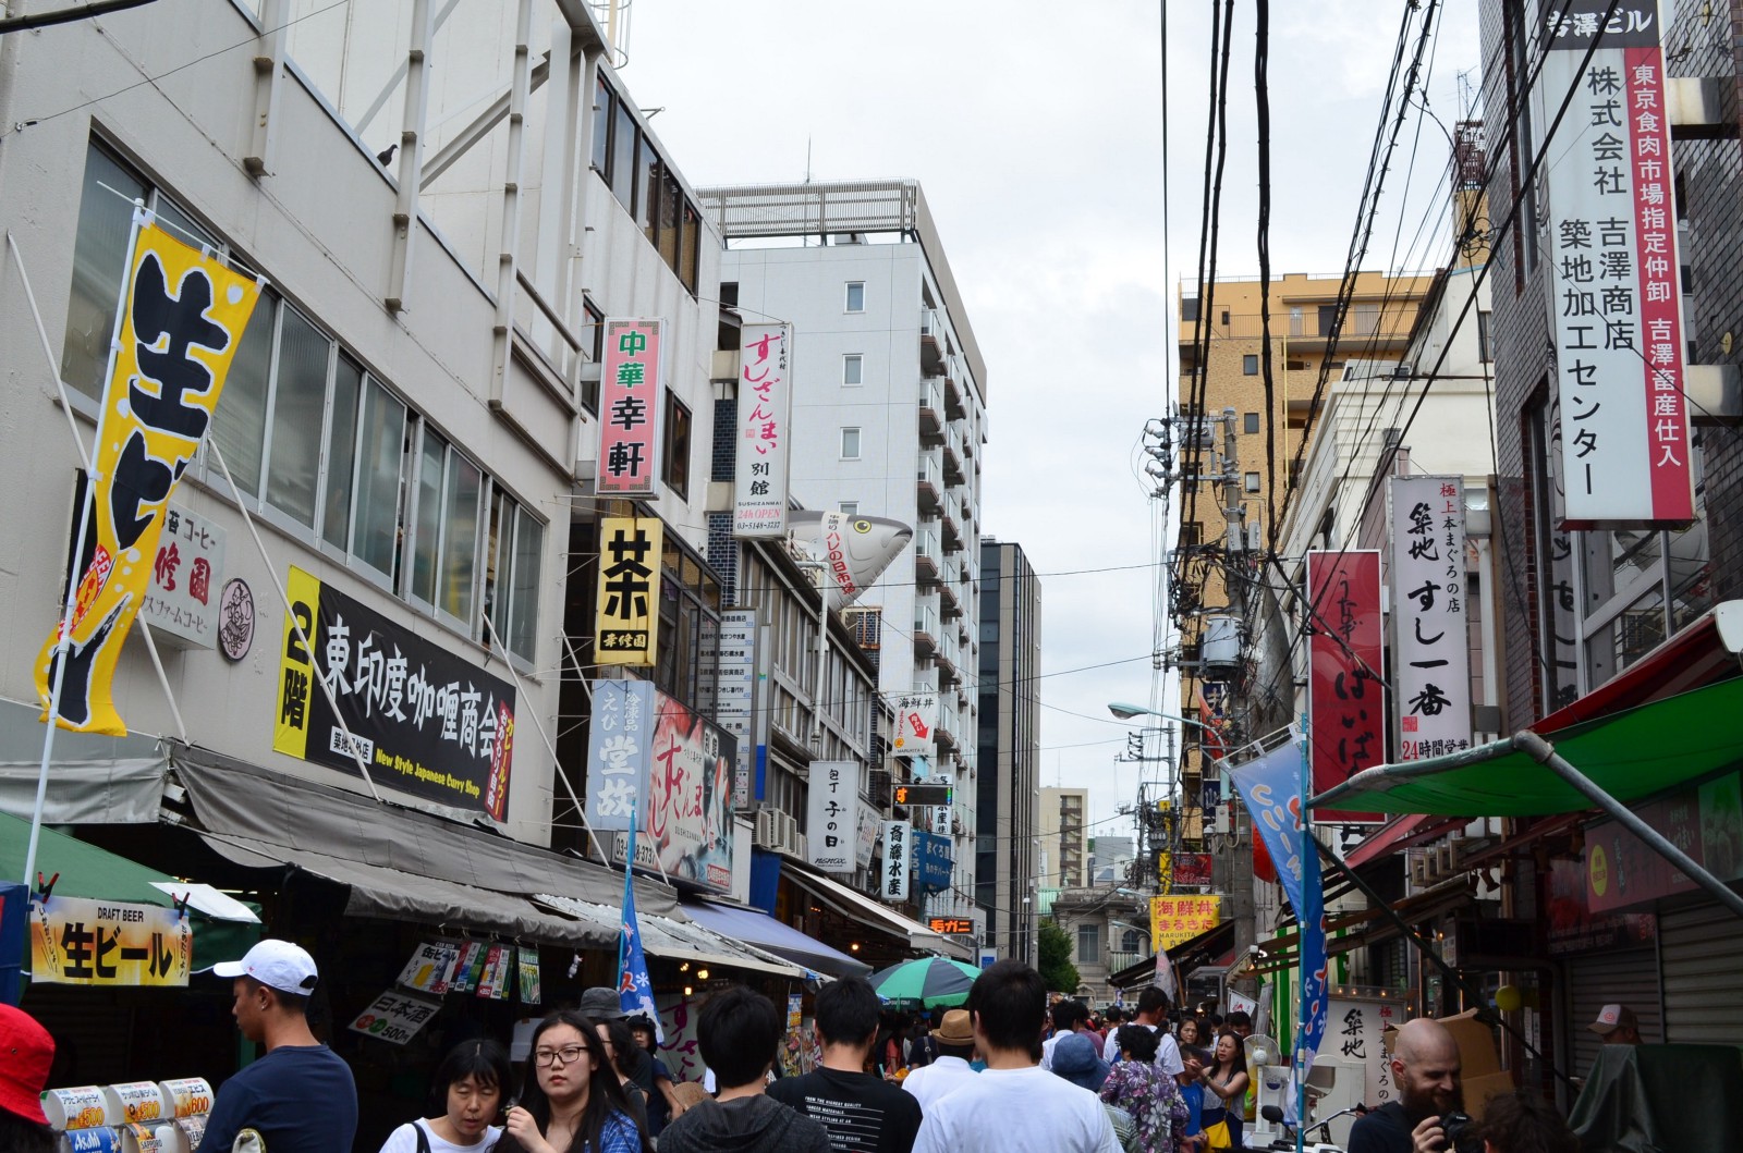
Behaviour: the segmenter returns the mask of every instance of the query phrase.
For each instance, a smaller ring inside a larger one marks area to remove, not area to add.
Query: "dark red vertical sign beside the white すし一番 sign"
[[[1380,671],[1380,554],[1309,552],[1307,620],[1312,791],[1325,792],[1386,761]],[[1314,810],[1314,820],[1375,820]]]

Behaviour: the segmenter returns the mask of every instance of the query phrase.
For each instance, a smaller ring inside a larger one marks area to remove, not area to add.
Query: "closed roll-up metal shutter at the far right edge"
[[[1665,960],[1665,1040],[1736,1045],[1743,1036],[1743,920],[1717,902],[1658,920]]]

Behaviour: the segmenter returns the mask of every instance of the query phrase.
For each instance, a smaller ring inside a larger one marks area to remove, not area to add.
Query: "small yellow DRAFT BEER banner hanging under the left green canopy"
[[[54,897],[30,906],[35,984],[185,986],[193,927],[174,909]]]

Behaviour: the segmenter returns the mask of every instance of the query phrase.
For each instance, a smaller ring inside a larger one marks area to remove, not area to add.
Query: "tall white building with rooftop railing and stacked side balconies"
[[[934,773],[957,784],[955,880],[931,916],[974,918],[980,477],[987,367],[915,181],[704,188],[727,240],[722,301],[795,326],[793,496],[887,516],[913,547],[882,608],[882,691],[939,691]],[[718,416],[716,416],[718,420]]]

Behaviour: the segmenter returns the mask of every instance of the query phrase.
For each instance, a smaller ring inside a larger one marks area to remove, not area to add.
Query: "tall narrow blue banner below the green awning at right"
[[[1234,791],[1253,817],[1253,834],[1271,853],[1278,883],[1300,923],[1302,1003],[1295,1045],[1300,1076],[1312,1068],[1326,1019],[1325,892],[1319,887],[1319,853],[1307,843],[1312,834],[1302,812],[1306,756],[1304,745],[1292,742],[1229,770]]]

